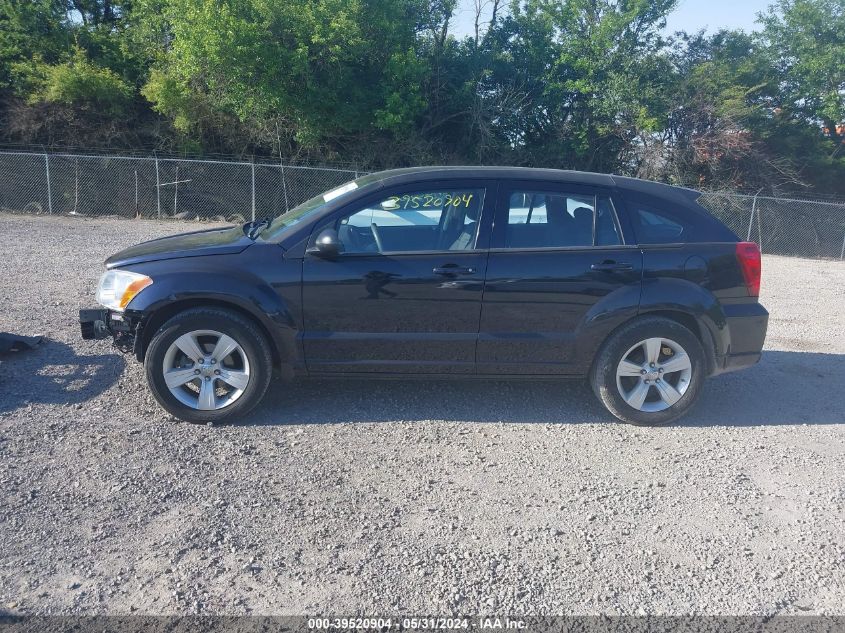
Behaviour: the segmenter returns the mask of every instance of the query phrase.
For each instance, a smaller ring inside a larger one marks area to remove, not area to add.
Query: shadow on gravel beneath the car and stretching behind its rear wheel
[[[241,423],[447,420],[614,422],[585,380],[303,380],[274,383]],[[845,355],[767,351],[759,365],[708,380],[684,426],[845,423]]]

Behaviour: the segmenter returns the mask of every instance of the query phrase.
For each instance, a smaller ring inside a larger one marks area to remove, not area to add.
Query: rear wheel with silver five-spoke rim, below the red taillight
[[[656,360],[654,365],[650,360]],[[689,329],[671,319],[643,317],[623,325],[604,342],[593,363],[590,384],[619,420],[660,426],[693,406],[706,367],[701,343]]]

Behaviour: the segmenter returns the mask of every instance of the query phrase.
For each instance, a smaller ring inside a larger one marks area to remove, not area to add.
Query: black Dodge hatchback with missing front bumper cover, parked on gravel
[[[370,174],[272,221],[106,261],[84,338],[113,336],[158,402],[235,419],[284,376],[588,376],[662,424],[760,359],[760,251],[698,192],[546,169]]]

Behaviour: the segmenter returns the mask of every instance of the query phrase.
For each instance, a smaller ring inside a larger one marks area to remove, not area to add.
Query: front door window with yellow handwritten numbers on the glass
[[[333,228],[347,254],[472,250],[483,204],[484,189],[398,192]]]

